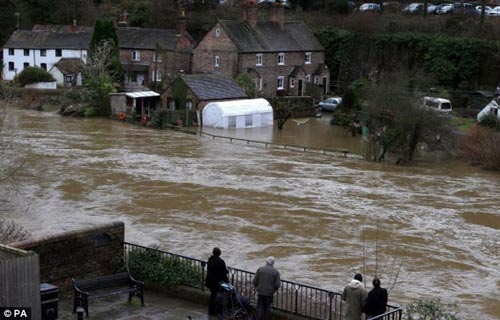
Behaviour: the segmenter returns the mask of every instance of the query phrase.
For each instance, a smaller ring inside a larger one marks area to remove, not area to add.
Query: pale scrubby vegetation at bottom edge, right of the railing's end
[[[405,306],[405,320],[460,320],[457,306],[440,299],[418,299]]]

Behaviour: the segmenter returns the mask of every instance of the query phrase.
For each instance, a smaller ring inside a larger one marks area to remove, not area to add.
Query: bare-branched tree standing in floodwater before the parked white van
[[[408,162],[413,160],[421,143],[429,149],[448,147],[451,141],[449,118],[424,108],[418,91],[394,85],[408,82],[405,75],[388,74],[380,84],[365,89],[364,117],[371,133],[368,159],[382,161],[389,151],[395,151],[397,163]]]

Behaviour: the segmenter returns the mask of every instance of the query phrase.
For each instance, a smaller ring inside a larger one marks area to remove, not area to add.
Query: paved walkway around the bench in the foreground
[[[155,291],[144,293],[145,306],[137,297],[127,302],[128,295],[117,295],[89,301],[89,320],[207,320],[207,308],[186,300],[175,299]],[[63,296],[59,301],[59,319],[75,320],[73,296]],[[86,319],[84,317],[84,319]]]

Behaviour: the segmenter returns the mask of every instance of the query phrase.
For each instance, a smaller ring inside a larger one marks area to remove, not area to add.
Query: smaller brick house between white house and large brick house
[[[125,85],[143,86],[190,73],[194,40],[186,24],[181,17],[176,30],[117,28]]]

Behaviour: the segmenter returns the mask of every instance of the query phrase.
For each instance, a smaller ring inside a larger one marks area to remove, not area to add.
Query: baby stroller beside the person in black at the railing
[[[236,292],[229,283],[219,283],[219,293],[216,299],[219,320],[251,320],[247,312],[248,300]]]

